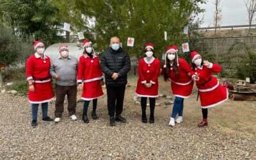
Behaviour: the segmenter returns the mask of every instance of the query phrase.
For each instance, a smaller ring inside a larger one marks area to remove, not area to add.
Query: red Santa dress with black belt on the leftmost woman
[[[27,80],[32,79],[35,91],[28,91],[28,99],[32,104],[49,102],[54,99],[51,77],[49,70],[51,67],[50,58],[41,58],[37,53],[30,56],[26,63]]]

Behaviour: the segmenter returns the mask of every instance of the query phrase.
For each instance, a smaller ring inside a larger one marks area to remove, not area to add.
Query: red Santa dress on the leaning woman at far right
[[[199,81],[196,81],[202,108],[212,108],[228,99],[228,90],[221,86],[218,79],[212,73],[221,71],[220,65],[210,63],[209,67],[204,65],[193,70],[199,74]]]

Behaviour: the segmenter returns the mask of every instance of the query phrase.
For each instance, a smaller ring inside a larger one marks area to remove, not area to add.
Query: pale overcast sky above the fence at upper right
[[[221,0],[220,6],[222,10],[220,26],[248,24],[248,14],[244,0]],[[199,17],[204,15],[204,24],[201,27],[213,26],[214,4],[212,0],[208,0],[207,4],[202,4],[201,7],[205,9],[205,12],[199,15]],[[255,24],[255,20],[252,24]]]

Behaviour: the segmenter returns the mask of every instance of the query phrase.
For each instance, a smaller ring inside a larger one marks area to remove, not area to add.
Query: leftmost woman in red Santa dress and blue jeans
[[[42,120],[52,121],[47,116],[48,102],[54,98],[52,91],[51,77],[49,70],[51,67],[50,58],[44,55],[45,46],[42,42],[36,41],[34,44],[35,54],[30,56],[26,63],[26,77],[29,84],[28,99],[31,103],[32,122],[31,126],[37,125],[38,106],[42,106]]]

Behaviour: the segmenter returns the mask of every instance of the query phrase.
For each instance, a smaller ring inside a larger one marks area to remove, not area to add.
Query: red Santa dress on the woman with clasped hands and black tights
[[[158,77],[160,74],[161,63],[157,58],[141,58],[138,65],[138,83],[136,95],[138,97],[158,97]],[[144,83],[151,83],[150,88],[146,88]]]

